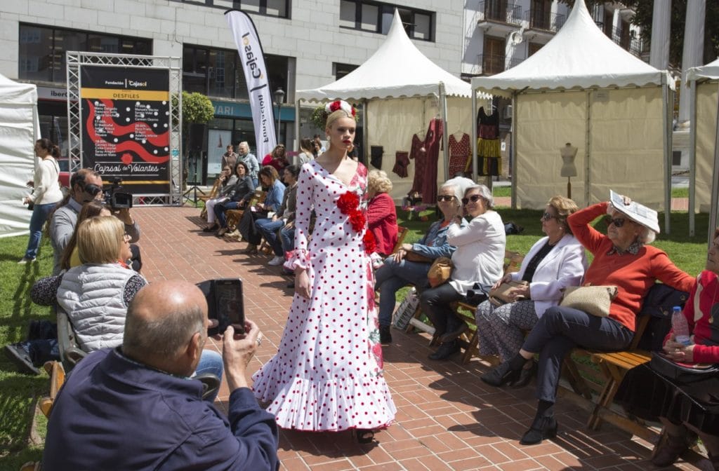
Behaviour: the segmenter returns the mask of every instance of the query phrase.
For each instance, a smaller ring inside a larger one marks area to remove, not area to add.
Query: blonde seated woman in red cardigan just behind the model
[[[386,257],[397,243],[397,211],[389,195],[392,182],[382,170],[372,170],[367,175],[367,225],[375,236],[376,253]]]

